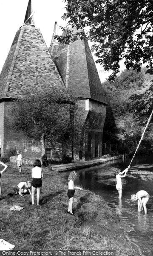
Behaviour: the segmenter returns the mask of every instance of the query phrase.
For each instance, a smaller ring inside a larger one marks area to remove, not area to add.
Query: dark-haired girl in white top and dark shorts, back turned
[[[32,199],[32,204],[34,205],[34,193],[37,188],[37,205],[39,205],[40,190],[42,187],[42,178],[43,178],[43,172],[42,172],[40,160],[36,159],[33,166],[34,168],[32,168],[32,173],[31,173],[31,176],[33,178],[32,188],[31,188],[31,199]]]

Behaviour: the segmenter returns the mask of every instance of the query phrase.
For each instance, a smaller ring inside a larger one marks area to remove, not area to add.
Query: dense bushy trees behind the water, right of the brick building
[[[131,69],[125,70],[117,76],[113,84],[109,81],[102,84],[113,111],[113,115],[107,113],[104,136],[109,131],[109,138],[122,141],[129,148],[137,146],[151,111],[150,104],[153,105],[153,92],[150,91],[152,77],[146,75],[145,71],[145,68],[140,73]],[[145,134],[144,140],[151,142],[150,133]]]

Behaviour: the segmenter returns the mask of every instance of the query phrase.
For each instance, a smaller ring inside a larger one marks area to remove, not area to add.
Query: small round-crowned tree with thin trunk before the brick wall
[[[29,138],[41,141],[44,155],[45,140],[51,145],[72,140],[75,129],[70,113],[76,108],[76,99],[65,89],[27,90],[25,96],[14,102],[13,127],[24,131]]]

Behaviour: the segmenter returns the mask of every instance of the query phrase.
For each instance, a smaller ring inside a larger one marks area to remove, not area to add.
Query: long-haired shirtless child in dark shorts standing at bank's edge
[[[69,198],[68,213],[70,213],[72,216],[74,216],[74,213],[72,212],[72,205],[73,205],[75,189],[83,190],[82,188],[79,188],[74,185],[74,180],[76,177],[77,177],[77,173],[75,171],[70,172],[70,175],[68,176],[68,198]]]

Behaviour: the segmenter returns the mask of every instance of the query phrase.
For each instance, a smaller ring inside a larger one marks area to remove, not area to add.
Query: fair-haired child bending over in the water
[[[144,213],[147,214],[147,201],[149,200],[150,195],[145,190],[140,190],[136,195],[131,195],[131,200],[138,200],[138,212],[142,212],[144,208]]]

